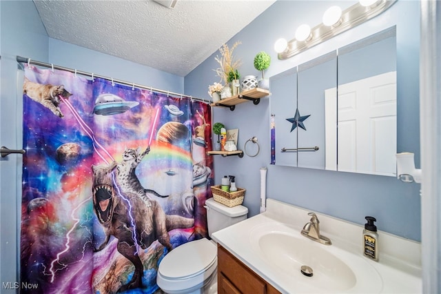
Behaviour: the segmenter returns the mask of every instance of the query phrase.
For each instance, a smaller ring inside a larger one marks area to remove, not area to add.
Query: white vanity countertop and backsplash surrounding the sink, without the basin
[[[310,211],[267,199],[265,213],[215,232],[212,237],[281,293],[318,293],[322,290],[322,293],[341,293],[323,285],[317,288],[313,279],[301,275],[299,277],[297,272],[293,275],[282,271],[256,250],[256,235],[261,234],[260,231],[272,229],[300,232],[311,218],[307,215]],[[329,237],[332,245],[325,246],[302,238],[310,241],[311,246],[319,246],[320,250],[329,251],[345,261],[358,275],[357,285],[343,293],[422,293],[419,242],[378,231],[379,261],[375,262],[362,256],[363,226],[320,213],[316,215],[320,221],[321,235]],[[380,278],[374,279],[374,276]]]

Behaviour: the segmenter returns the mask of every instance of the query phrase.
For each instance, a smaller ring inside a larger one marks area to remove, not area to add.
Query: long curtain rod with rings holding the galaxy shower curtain
[[[30,58],[26,58],[26,57],[21,57],[17,55],[17,62],[19,63],[28,63],[28,64],[33,64],[34,66],[43,66],[45,68],[52,68],[55,70],[65,70],[68,72],[73,72],[76,75],[83,75],[86,77],[92,77],[92,78],[99,78],[99,79],[106,79],[107,81],[112,81],[113,83],[117,83],[117,84],[122,84],[125,86],[132,86],[132,87],[136,87],[136,88],[141,88],[141,89],[145,89],[145,90],[151,90],[154,92],[161,92],[167,95],[174,95],[174,96],[178,96],[178,97],[187,97],[189,99],[194,99],[194,100],[198,100],[198,101],[202,101],[205,104],[210,104],[210,101],[207,100],[205,101],[204,99],[201,98],[197,98],[197,97],[192,97],[192,96],[188,96],[188,95],[183,95],[180,93],[175,93],[175,92],[170,92],[170,91],[166,91],[166,90],[161,90],[161,89],[156,89],[156,88],[152,88],[152,87],[147,87],[147,86],[143,86],[143,85],[139,85],[139,84],[135,84],[135,83],[130,83],[129,81],[123,81],[121,79],[114,79],[112,77],[105,77],[103,75],[95,75],[93,72],[83,72],[82,70],[76,70],[76,69],[72,69],[72,68],[65,68],[63,66],[56,66],[53,63],[45,63],[42,61],[37,61],[37,60],[33,60]]]

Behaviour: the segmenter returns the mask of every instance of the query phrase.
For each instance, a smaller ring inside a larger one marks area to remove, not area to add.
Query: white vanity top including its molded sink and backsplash
[[[375,262],[362,255],[361,225],[316,213],[320,233],[329,237],[332,245],[322,245],[301,236],[302,227],[311,218],[307,215],[309,212],[311,210],[267,199],[265,213],[215,232],[212,237],[281,293],[422,293],[419,242],[378,231],[379,261]],[[270,246],[262,241],[265,234],[265,242],[272,242]],[[283,246],[273,246],[278,242],[274,238],[279,237]],[[302,245],[303,249],[296,245],[287,247],[285,240],[298,240],[293,244],[300,241],[306,246]],[[262,250],[263,246],[266,247]],[[287,254],[277,261],[280,254],[274,255],[271,248],[292,251],[294,259],[303,260],[306,259],[301,255],[306,251],[314,252],[315,256],[307,260],[323,259],[314,266],[318,274],[312,277],[301,275],[300,265],[296,268],[298,260],[289,260],[293,257]],[[289,267],[291,264],[294,265],[292,268]],[[340,264],[340,267],[334,264]],[[320,271],[327,273],[320,275]]]

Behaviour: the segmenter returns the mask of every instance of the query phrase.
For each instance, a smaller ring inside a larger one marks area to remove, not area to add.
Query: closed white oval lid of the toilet
[[[203,238],[187,242],[165,255],[158,271],[172,280],[198,275],[216,262],[216,245]]]

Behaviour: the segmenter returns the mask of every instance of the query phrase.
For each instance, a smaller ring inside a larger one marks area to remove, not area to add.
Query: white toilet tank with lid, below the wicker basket
[[[242,205],[228,207],[209,198],[205,201],[207,208],[207,226],[209,237],[212,233],[231,226],[247,218],[248,208]]]

